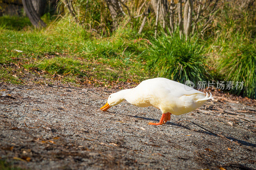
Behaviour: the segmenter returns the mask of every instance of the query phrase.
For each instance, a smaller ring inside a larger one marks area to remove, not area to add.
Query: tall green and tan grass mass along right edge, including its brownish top
[[[224,6],[218,15],[223,22],[215,21],[215,37],[206,43],[212,74],[220,81],[244,81],[242,90],[229,92],[256,99],[256,11]]]

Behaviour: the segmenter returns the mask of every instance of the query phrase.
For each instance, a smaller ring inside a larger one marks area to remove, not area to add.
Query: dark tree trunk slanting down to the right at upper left
[[[36,13],[31,0],[22,0],[22,4],[32,25],[34,25],[36,28],[46,26],[39,15]]]

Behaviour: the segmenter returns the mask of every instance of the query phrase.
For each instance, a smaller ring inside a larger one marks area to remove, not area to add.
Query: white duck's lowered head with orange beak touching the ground
[[[119,92],[113,93],[108,96],[107,103],[100,108],[102,111],[108,110],[112,106],[116,106],[117,104],[124,101],[124,90],[121,90]]]

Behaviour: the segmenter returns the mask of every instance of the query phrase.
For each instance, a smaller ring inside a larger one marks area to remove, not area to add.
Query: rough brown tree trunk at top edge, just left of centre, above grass
[[[108,5],[108,9],[111,14],[113,30],[115,30],[118,27],[118,17],[122,14],[122,10],[121,10],[122,7],[120,6],[120,3],[118,2],[118,0],[105,0],[105,1]]]

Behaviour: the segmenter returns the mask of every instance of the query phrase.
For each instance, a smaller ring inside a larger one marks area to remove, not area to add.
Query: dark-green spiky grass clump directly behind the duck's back
[[[145,51],[143,59],[147,70],[154,76],[181,83],[187,80],[196,83],[211,78],[203,63],[203,46],[198,40],[185,41],[177,33],[173,37],[154,39],[151,43],[152,47]]]

